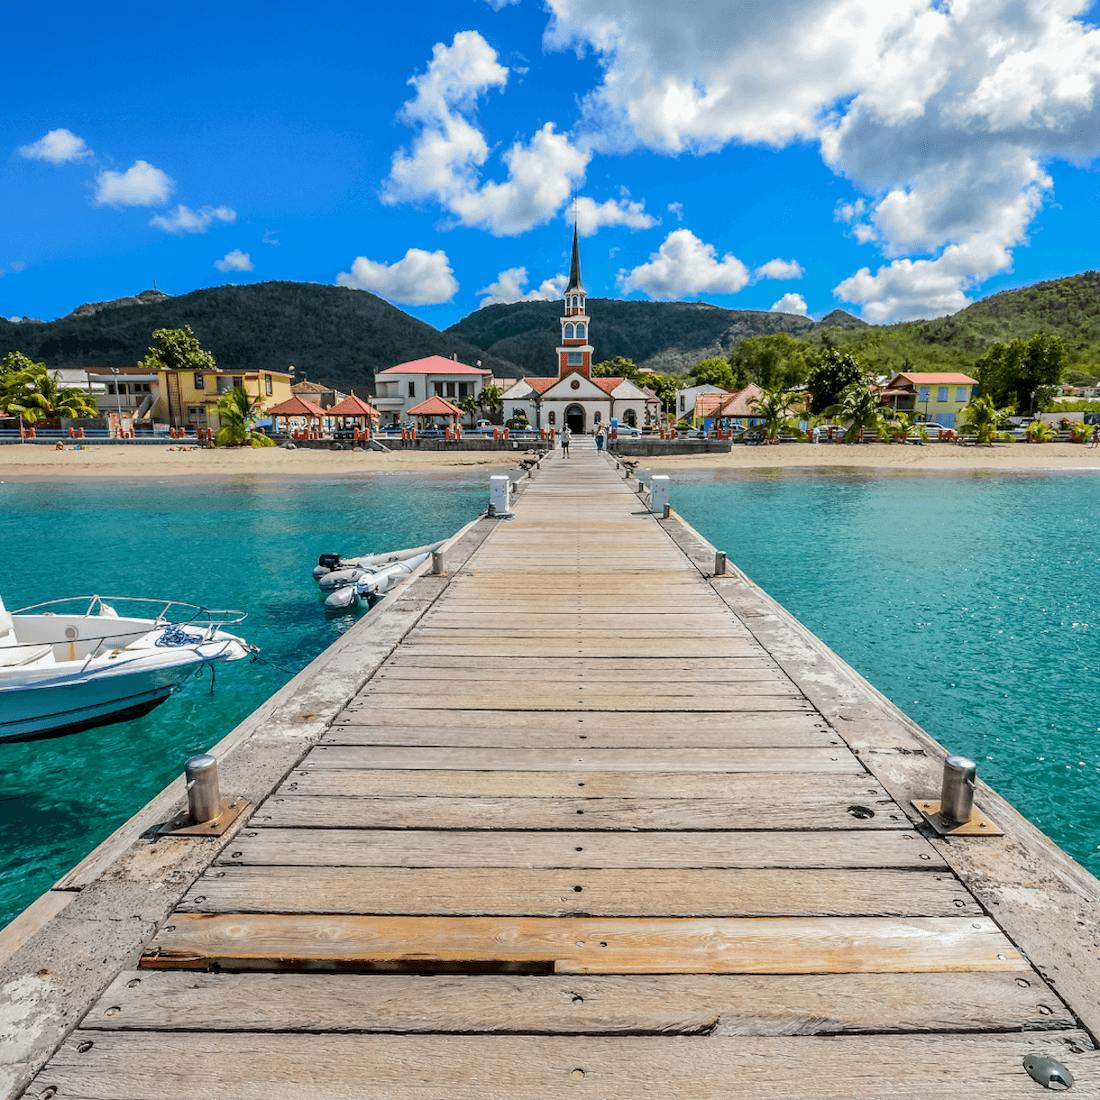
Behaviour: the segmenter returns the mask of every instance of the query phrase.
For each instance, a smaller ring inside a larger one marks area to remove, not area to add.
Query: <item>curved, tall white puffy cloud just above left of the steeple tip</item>
[[[547,122],[505,151],[503,180],[483,179],[490,147],[477,101],[507,80],[508,69],[476,31],[437,43],[428,68],[409,80],[415,95],[402,117],[416,133],[394,155],[383,200],[439,202],[460,224],[504,237],[549,221],[584,178],[590,154]]]

